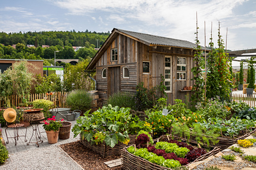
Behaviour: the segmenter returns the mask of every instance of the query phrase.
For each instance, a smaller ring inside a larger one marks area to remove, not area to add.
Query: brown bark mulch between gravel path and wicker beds
[[[72,159],[75,160],[83,169],[121,169],[121,166],[116,168],[109,168],[104,162],[119,159],[121,156],[111,156],[111,157],[100,157],[100,154],[86,148],[79,141],[71,142],[68,144],[60,145],[60,148],[64,150]]]

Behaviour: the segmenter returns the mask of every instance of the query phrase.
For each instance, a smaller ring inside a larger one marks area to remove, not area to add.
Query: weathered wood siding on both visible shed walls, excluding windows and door
[[[118,61],[111,61],[111,49],[118,49]],[[136,92],[136,85],[139,82],[144,82],[144,87],[150,89],[156,87],[161,82],[161,74],[164,76],[165,71],[165,56],[171,56],[171,93],[167,93],[167,102],[174,104],[175,99],[181,99],[185,102],[186,96],[191,97],[191,91],[180,92],[179,89],[193,86],[193,73],[191,68],[194,67],[193,50],[182,49],[176,47],[157,46],[151,47],[143,44],[132,38],[119,34],[114,41],[110,43],[107,49],[102,53],[101,58],[96,64],[97,72],[97,90],[101,99],[106,100],[113,90],[108,89],[113,87],[110,83],[110,75],[108,69],[110,67],[120,68],[120,91]],[[187,79],[177,80],[177,56],[187,58]],[[150,73],[143,73],[143,61],[150,62]],[[129,69],[129,78],[123,77],[123,69]],[[107,70],[107,78],[101,77],[103,68]],[[115,90],[114,90],[115,91]]]

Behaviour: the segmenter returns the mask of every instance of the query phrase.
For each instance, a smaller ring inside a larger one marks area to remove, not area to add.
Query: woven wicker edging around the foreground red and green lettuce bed
[[[132,147],[132,145],[130,145],[129,147]],[[156,165],[155,163],[149,162],[146,159],[143,159],[142,157],[138,157],[135,156],[134,154],[131,154],[127,151],[127,148],[129,147],[125,147],[121,150],[121,157],[122,157],[122,164],[121,167],[122,169],[147,169],[147,170],[165,170],[165,169],[171,169],[171,168],[166,168],[164,166],[160,166],[160,165]],[[194,162],[200,161],[200,160],[204,160],[214,154],[219,153],[220,149],[218,147],[214,147],[213,150],[211,150],[209,153],[206,153],[200,157],[198,157],[196,160],[194,160]],[[191,162],[191,163],[194,163]],[[190,165],[191,163],[189,163],[188,165]],[[186,165],[186,166],[188,166]]]

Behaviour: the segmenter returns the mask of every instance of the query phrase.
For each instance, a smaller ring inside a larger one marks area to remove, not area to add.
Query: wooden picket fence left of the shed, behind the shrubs
[[[66,105],[66,96],[69,92],[54,92],[54,93],[41,93],[41,94],[28,94],[29,102],[33,102],[36,99],[46,99],[54,102],[54,107],[57,106],[57,99],[59,99],[59,108],[68,108]],[[22,103],[21,97],[17,95],[11,95],[9,97],[12,106],[19,106],[19,103]],[[0,108],[4,106],[4,101],[0,102]]]

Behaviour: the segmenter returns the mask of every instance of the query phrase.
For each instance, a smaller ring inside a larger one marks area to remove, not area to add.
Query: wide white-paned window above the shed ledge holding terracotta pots
[[[187,58],[177,57],[177,80],[187,79]]]

